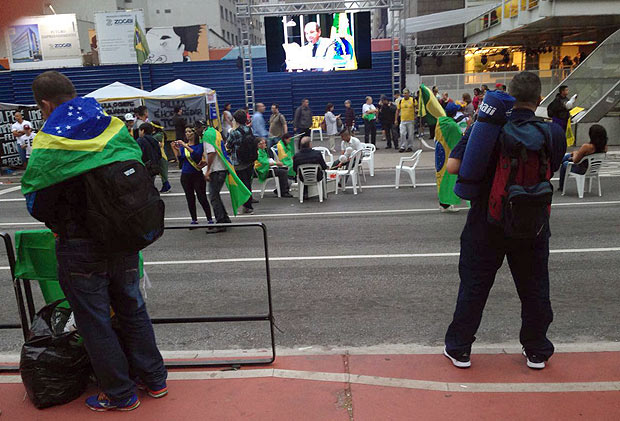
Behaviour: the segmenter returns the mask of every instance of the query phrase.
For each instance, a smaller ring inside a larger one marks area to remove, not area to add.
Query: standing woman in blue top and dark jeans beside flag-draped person
[[[172,149],[181,164],[181,186],[185,192],[185,200],[192,218],[190,225],[198,224],[196,198],[198,198],[198,202],[202,206],[207,222],[212,224],[211,207],[207,200],[207,182],[202,173],[202,168],[205,166],[204,143],[198,140],[194,130],[193,127],[187,126],[185,128],[187,143],[177,140],[172,144]]]

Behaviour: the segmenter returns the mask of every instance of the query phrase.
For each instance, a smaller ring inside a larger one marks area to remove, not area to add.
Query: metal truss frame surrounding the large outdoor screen
[[[261,16],[300,15],[308,13],[336,13],[346,11],[371,11],[388,9],[392,18],[391,55],[392,55],[392,90],[400,92],[401,85],[401,34],[404,0],[353,0],[353,1],[317,1],[297,3],[255,3],[255,0],[237,0],[237,22],[241,29],[239,44],[245,103],[250,112],[254,111],[254,69],[252,67],[252,18]]]

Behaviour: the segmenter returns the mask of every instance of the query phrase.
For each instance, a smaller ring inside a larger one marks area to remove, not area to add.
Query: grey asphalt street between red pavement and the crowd
[[[558,343],[620,341],[619,180],[603,177],[602,197],[579,199],[574,181],[567,196],[554,197],[549,269],[555,319],[549,335]],[[164,195],[166,223],[186,226],[178,174],[171,181],[173,192]],[[270,184],[254,215],[233,218],[267,226],[278,345],[442,343],[458,289],[459,235],[467,210],[439,212],[431,170],[418,171],[418,183],[416,189],[396,190],[393,170],[379,170],[358,195],[347,190],[324,203],[314,198],[303,204],[274,197]],[[0,186],[0,230],[41,228],[19,191],[7,190],[11,187]],[[225,203],[230,210],[228,196]],[[216,235],[167,231],[144,251],[151,315],[264,313],[263,255],[256,228]],[[16,322],[4,250],[0,266],[0,323]],[[519,327],[519,300],[505,264],[478,338],[518,344]],[[262,322],[157,326],[156,333],[164,350],[268,345]],[[3,331],[0,338],[0,352],[19,351],[19,331]]]

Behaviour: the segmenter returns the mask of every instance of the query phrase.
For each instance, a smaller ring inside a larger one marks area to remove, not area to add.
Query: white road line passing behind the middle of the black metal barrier
[[[568,253],[615,253],[620,252],[620,247],[598,247],[598,248],[580,248],[580,249],[558,249],[550,250],[551,254],[568,254]],[[313,260],[364,260],[364,259],[419,259],[434,257],[458,257],[459,252],[449,253],[407,253],[407,254],[350,254],[350,255],[326,255],[326,256],[280,256],[270,257],[270,262],[301,262]],[[198,265],[198,264],[215,264],[215,263],[251,263],[264,262],[264,257],[241,257],[237,259],[203,259],[203,260],[160,260],[148,262],[146,266],[168,266],[168,265]],[[8,270],[8,266],[0,266],[0,270]]]

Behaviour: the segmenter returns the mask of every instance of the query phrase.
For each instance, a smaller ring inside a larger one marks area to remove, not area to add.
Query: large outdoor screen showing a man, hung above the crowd
[[[270,72],[371,68],[370,12],[265,18]]]

